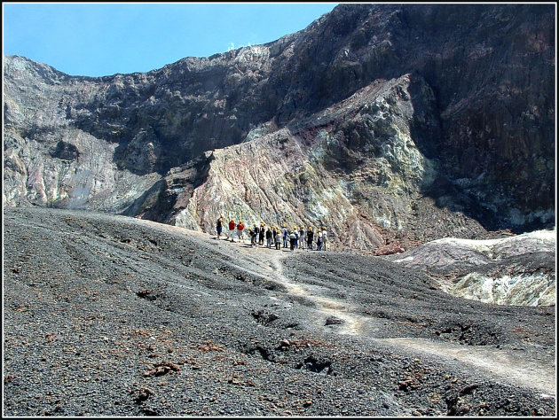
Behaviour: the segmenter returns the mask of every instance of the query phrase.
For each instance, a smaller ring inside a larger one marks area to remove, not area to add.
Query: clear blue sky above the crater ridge
[[[148,72],[297,32],[335,3],[3,3],[3,51],[71,75]]]

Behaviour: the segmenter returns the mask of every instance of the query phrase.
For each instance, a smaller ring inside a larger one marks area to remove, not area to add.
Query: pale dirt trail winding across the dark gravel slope
[[[162,229],[169,229],[175,233],[186,233],[200,237],[202,239],[215,239],[215,236],[209,234],[178,228],[176,226],[162,225],[156,222],[146,222],[150,225],[159,226]],[[506,351],[488,346],[461,346],[449,342],[436,342],[425,338],[375,338],[374,324],[376,320],[371,317],[357,315],[352,313],[350,302],[341,299],[332,299],[321,296],[319,288],[311,284],[294,283],[284,275],[282,261],[288,260],[295,253],[290,253],[285,249],[281,252],[275,249],[269,250],[264,246],[252,248],[247,246],[248,241],[232,244],[229,241],[216,241],[221,249],[227,250],[227,247],[234,247],[236,252],[242,255],[242,258],[258,267],[260,274],[269,276],[274,281],[282,284],[287,289],[287,294],[292,296],[302,296],[312,301],[317,310],[324,315],[334,315],[342,320],[342,324],[335,331],[339,334],[349,334],[351,336],[363,336],[382,341],[392,346],[405,347],[413,349],[423,354],[430,354],[443,359],[452,358],[454,361],[473,366],[476,369],[483,369],[484,372],[498,380],[502,380],[512,385],[523,385],[532,389],[537,389],[544,393],[543,395],[556,394],[555,385],[555,366],[539,363],[530,358],[529,355],[520,352]],[[258,255],[263,255],[260,258]],[[324,317],[317,317],[322,320]],[[326,328],[324,324],[319,324],[319,328]],[[367,328],[368,327],[368,328]]]

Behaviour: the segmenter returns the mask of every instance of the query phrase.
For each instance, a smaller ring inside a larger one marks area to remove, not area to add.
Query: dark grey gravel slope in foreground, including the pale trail
[[[555,416],[555,306],[380,257],[4,208],[4,416]]]

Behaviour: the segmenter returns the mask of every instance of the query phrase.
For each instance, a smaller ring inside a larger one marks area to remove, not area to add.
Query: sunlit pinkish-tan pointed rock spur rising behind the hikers
[[[173,169],[124,214],[207,232],[220,214],[248,227],[327,227],[334,249],[370,250],[387,239],[411,246],[450,232],[483,236],[463,214],[417,211],[438,175],[410,127],[429,122],[416,109],[429,109],[432,98],[419,76],[376,81],[287,128]]]

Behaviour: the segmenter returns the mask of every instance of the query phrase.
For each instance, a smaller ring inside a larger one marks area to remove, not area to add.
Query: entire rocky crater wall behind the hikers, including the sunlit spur
[[[547,4],[341,4],[146,74],[4,61],[4,203],[211,231],[327,226],[339,249],[555,222]]]

